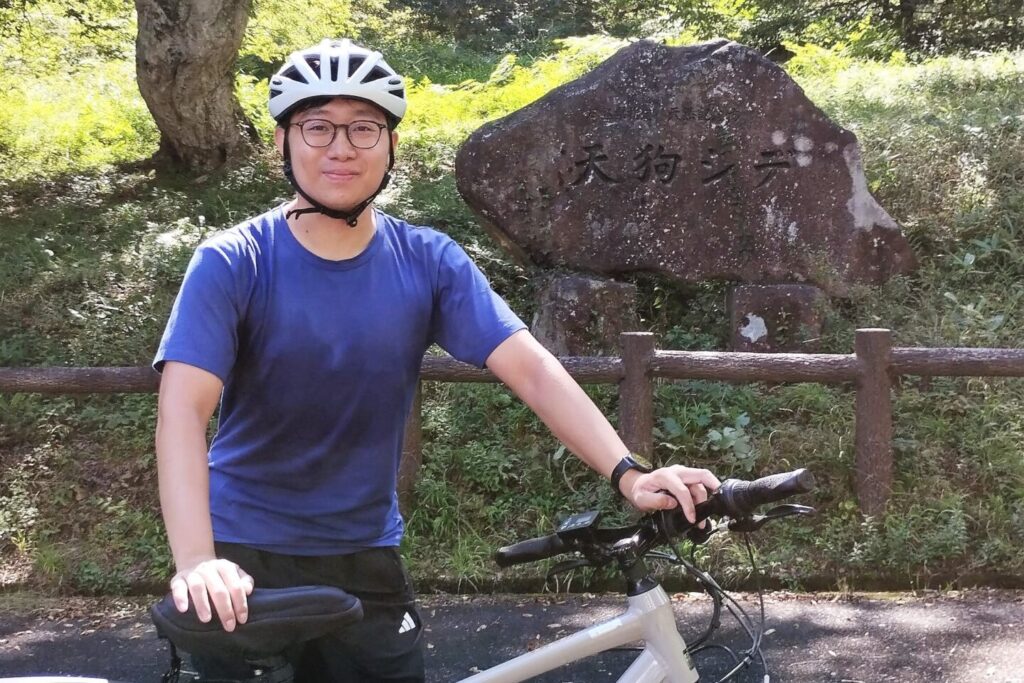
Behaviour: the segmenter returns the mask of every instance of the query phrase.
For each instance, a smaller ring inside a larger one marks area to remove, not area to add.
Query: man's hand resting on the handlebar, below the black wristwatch
[[[707,501],[708,495],[718,490],[721,482],[709,470],[672,465],[649,474],[631,470],[623,475],[618,485],[633,507],[644,512],[671,510],[678,501],[686,519],[693,523],[696,504]]]

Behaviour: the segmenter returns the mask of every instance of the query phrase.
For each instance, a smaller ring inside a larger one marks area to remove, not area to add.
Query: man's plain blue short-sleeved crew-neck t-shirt
[[[483,367],[525,326],[451,238],[377,212],[358,256],[331,261],[284,208],[193,256],[154,367],[224,383],[210,446],[214,538],[300,555],[401,540],[406,417],[432,343]]]

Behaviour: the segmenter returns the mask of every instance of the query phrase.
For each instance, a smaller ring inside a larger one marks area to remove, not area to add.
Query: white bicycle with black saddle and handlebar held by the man
[[[756,627],[738,603],[711,575],[683,558],[673,543],[685,537],[692,547],[696,547],[725,529],[749,532],[776,519],[813,514],[813,508],[793,504],[779,505],[765,514],[755,514],[762,505],[809,493],[813,487],[814,478],[804,469],[754,481],[727,479],[708,501],[696,506],[696,523],[693,524],[685,519],[679,508],[647,514],[636,523],[622,527],[600,527],[599,513],[585,512],[565,519],[552,535],[500,549],[496,553],[500,566],[534,562],[566,553],[574,555],[556,564],[549,571],[549,577],[583,566],[614,564],[626,579],[628,607],[613,618],[520,654],[460,683],[517,683],[599,652],[623,649],[623,646],[635,641],[643,641],[644,646],[639,648],[639,655],[617,679],[618,683],[695,683],[700,678],[693,656],[711,648],[726,651],[734,663],[733,668],[717,683],[733,680],[757,660],[767,683],[770,680],[768,664],[761,650],[763,596],[761,623]],[[707,522],[705,528],[699,527],[701,521]],[[662,546],[671,550],[656,550]],[[748,551],[753,563],[749,544]],[[711,623],[693,643],[687,645],[679,633],[671,598],[651,577],[646,558],[682,566],[712,596],[714,608]],[[760,595],[761,591],[758,593]],[[751,638],[749,649],[736,653],[708,642],[721,624],[723,608],[737,620]],[[340,589],[307,586],[256,589],[249,596],[248,622],[231,633],[225,632],[216,620],[206,624],[200,622],[191,606],[188,611],[179,612],[170,596],[153,606],[151,616],[158,634],[166,638],[171,647],[171,667],[161,679],[162,683],[197,680],[194,672],[184,667],[178,648],[200,655],[216,656],[232,652],[244,656],[253,667],[252,675],[230,683],[291,683],[291,667],[283,653],[293,645],[358,622],[361,605],[355,597]],[[18,680],[22,683],[71,683],[74,680],[95,679],[56,677]]]

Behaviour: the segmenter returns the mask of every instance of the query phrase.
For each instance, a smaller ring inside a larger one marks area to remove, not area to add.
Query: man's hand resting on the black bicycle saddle
[[[253,592],[253,578],[234,562],[211,559],[174,574],[171,596],[178,611],[188,610],[190,597],[199,621],[209,622],[215,609],[224,631],[233,631],[236,624],[249,618],[246,596]]]

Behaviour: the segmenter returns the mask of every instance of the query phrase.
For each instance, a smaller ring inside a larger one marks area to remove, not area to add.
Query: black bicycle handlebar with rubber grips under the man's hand
[[[814,475],[806,469],[772,474],[754,481],[741,479],[726,479],[711,498],[696,506],[696,522],[700,523],[709,517],[728,516],[732,519],[748,517],[761,505],[807,494],[814,489]],[[651,513],[643,517],[640,523],[622,529],[594,529],[601,537],[600,542],[613,544],[615,541],[629,538],[644,526],[653,526],[659,531],[659,537],[671,541],[690,528],[693,524],[683,515],[681,508]],[[527,539],[511,546],[500,548],[495,553],[495,561],[501,567],[514,564],[524,564],[561,555],[577,550],[578,543],[566,543],[557,533]]]

